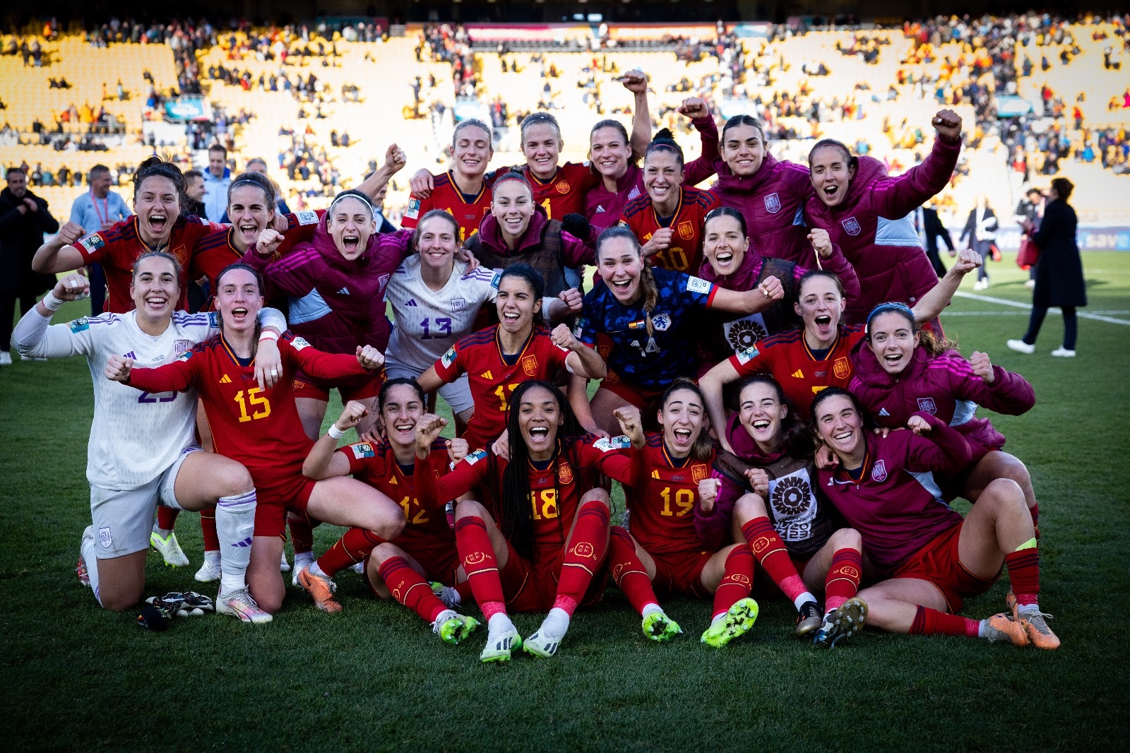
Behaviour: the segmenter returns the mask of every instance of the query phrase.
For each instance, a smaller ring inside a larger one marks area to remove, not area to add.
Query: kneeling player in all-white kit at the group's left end
[[[28,357],[85,355],[94,379],[94,422],[87,459],[93,525],[82,534],[79,578],[107,609],[128,609],[145,590],[145,555],[157,505],[185,510],[215,507],[224,551],[216,608],[244,622],[269,622],[247,591],[247,539],[255,514],[255,487],[238,461],[200,452],[195,443],[195,393],[174,389],[138,392],[97,376],[118,354],[138,364],[157,365],[211,338],[215,314],[176,310],[182,270],[176,259],[150,251],[133,262],[133,309],[104,313],[68,324],[50,324],[63,301],[88,289],[68,275],[16,327],[16,347]],[[264,337],[278,337],[286,320],[275,310],[257,312]],[[254,321],[254,315],[252,315]],[[278,379],[279,356],[272,341],[247,371],[247,386],[268,388]],[[271,373],[271,372],[275,373]],[[276,560],[276,562],[278,562]]]

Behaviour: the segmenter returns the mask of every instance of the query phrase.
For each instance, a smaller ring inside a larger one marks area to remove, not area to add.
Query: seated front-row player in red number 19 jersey
[[[706,407],[698,388],[680,376],[661,405],[660,434],[644,434],[635,406],[616,410],[632,440],[632,481],[624,487],[628,527],[611,529],[608,569],[643,617],[644,635],[655,641],[683,632],[659,606],[657,589],[696,598],[713,594],[711,624],[702,642],[721,648],[757,620],[757,601],[749,598],[754,555],[744,542],[710,546],[695,531],[698,483],[710,474],[715,456],[703,431]]]

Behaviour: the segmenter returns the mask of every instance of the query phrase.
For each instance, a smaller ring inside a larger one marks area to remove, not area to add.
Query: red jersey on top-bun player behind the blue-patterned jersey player
[[[703,220],[711,209],[719,206],[719,200],[710,191],[684,188],[675,216],[661,220],[651,197],[643,193],[624,207],[620,224],[627,226],[641,243],[650,241],[660,227],[673,228],[671,245],[652,256],[651,261],[663,269],[696,275],[703,261]]]

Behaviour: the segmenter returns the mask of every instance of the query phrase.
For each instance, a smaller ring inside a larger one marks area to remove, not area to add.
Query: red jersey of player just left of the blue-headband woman
[[[864,335],[862,324],[840,324],[836,341],[823,358],[817,358],[805,341],[805,330],[792,329],[736,353],[730,356],[730,365],[739,376],[773,374],[807,421],[817,392],[828,387],[847,389],[853,372],[849,354]]]

